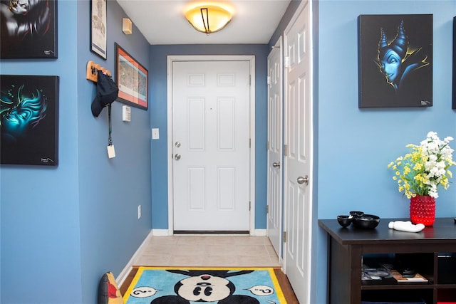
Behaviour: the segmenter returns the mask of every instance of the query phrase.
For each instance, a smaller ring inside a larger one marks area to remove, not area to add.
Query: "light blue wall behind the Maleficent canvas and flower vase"
[[[431,108],[358,108],[360,14],[433,14]],[[408,218],[409,201],[398,192],[387,165],[407,152],[405,145],[418,144],[430,130],[440,138],[456,138],[455,110],[451,108],[454,16],[453,0],[320,1],[314,100],[318,110],[318,219],[334,219],[354,209],[380,218]],[[455,217],[456,185],[441,190],[439,196],[436,216]],[[326,303],[327,249],[326,234],[318,229],[317,303]]]

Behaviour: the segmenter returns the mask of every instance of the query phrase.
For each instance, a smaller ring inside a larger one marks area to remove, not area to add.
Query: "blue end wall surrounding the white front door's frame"
[[[255,228],[266,229],[266,135],[267,135],[267,45],[172,45],[150,46],[150,125],[160,128],[160,140],[152,140],[152,224],[168,229],[167,197],[167,56],[255,56]]]

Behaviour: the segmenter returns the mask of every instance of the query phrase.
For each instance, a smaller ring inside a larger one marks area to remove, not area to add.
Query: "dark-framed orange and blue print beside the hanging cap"
[[[115,43],[115,77],[118,101],[147,110],[149,73],[129,53]]]

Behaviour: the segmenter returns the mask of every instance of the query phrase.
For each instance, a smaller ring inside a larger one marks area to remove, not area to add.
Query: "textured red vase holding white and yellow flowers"
[[[432,226],[435,221],[435,198],[417,195],[410,199],[410,221],[413,224]]]

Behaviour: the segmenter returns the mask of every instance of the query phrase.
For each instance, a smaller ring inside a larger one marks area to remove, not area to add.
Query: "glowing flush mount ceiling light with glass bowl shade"
[[[231,21],[232,14],[216,5],[197,6],[185,13],[185,18],[202,33],[214,33],[224,28]]]

